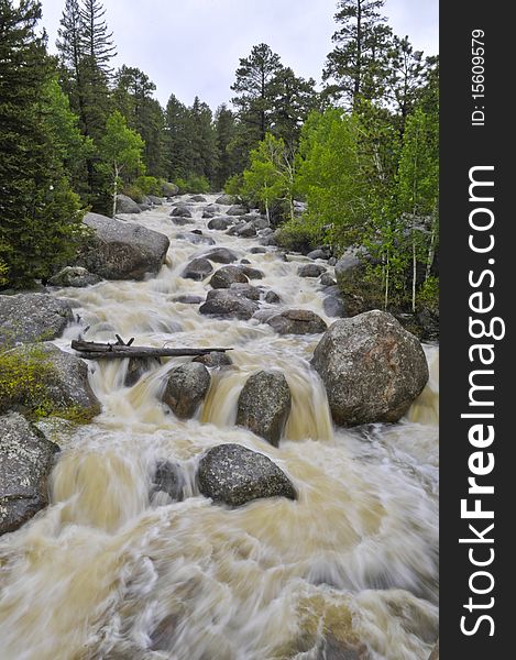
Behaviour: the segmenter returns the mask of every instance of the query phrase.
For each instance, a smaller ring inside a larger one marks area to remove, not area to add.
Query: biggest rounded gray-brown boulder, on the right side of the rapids
[[[419,340],[384,311],[336,321],[312,366],[338,425],[397,421],[421,393],[428,365]]]

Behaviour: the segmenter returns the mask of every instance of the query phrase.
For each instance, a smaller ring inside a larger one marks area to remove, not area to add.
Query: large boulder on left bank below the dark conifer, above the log
[[[77,265],[106,279],[143,279],[165,262],[167,237],[133,222],[87,213],[84,223],[95,234],[80,251]]]

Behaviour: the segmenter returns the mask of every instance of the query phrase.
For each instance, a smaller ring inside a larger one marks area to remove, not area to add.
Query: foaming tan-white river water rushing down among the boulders
[[[255,239],[206,229],[205,206],[195,205],[196,227],[265,273],[253,284],[273,288],[285,307],[333,320],[317,280],[297,276],[307,260],[250,254]],[[438,616],[437,349],[426,346],[430,382],[404,420],[333,429],[309,366],[320,337],[281,337],[256,320],[217,320],[173,300],[206,295],[207,284],[180,273],[209,245],[176,239],[194,226],[174,226],[169,211],[136,218],[172,240],[157,277],[57,295],[74,300],[85,339],[118,332],[135,344],[232,346],[234,365],[211,372],[189,421],[158,403],[166,372],[186,359],[163,361],[131,388],[127,364],[91,367],[102,414],[59,437],[51,506],[0,539],[1,660],[322,660],[325,638],[360,642],[360,658],[426,660]],[[69,350],[80,328],[57,345]],[[293,393],[279,449],[234,426],[245,380],[268,367],[285,373]],[[268,455],[298,501],[210,504],[196,465],[221,442]],[[184,502],[150,499],[163,459],[183,469]]]

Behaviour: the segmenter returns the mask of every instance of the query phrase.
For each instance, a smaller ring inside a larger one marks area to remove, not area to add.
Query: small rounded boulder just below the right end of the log
[[[163,402],[176,417],[189,419],[208,394],[210,384],[211,376],[204,364],[182,364],[167,373]]]

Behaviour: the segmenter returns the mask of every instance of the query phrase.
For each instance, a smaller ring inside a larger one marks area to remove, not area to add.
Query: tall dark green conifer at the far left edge
[[[0,0],[0,262],[23,286],[74,252],[81,213],[50,121],[53,61],[35,29],[35,0]]]

